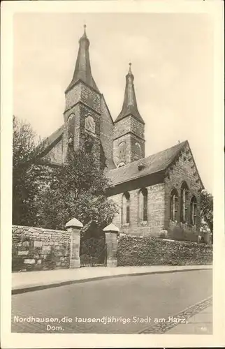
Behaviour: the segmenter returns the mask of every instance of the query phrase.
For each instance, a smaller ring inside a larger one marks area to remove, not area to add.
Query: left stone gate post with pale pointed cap
[[[82,223],[73,218],[66,223],[66,230],[71,233],[70,268],[80,268],[80,230]]]

